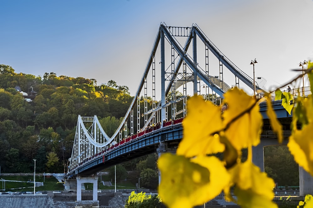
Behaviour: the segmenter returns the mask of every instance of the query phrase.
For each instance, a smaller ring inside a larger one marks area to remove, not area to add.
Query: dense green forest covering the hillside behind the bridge
[[[36,96],[29,101],[21,91],[33,91]],[[43,76],[18,74],[11,66],[0,64],[1,172],[33,172],[33,159],[36,159],[38,173],[65,172],[78,115],[97,115],[105,132],[111,136],[132,99],[129,88],[117,85],[114,80],[97,85],[95,79],[58,76],[54,72]],[[144,105],[143,99],[141,103]],[[152,100],[148,98],[148,109],[151,105]],[[270,177],[280,186],[299,185],[298,166],[284,147],[266,148],[264,153],[265,171]],[[152,176],[156,172],[156,158],[143,157],[124,163],[122,168]]]

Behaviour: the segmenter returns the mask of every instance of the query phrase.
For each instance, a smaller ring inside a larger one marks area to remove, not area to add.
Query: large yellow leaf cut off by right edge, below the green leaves
[[[313,123],[309,123],[301,130],[293,129],[287,144],[290,153],[306,172],[313,176]]]

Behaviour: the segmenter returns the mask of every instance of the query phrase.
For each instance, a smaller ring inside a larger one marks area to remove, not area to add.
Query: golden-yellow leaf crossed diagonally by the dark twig
[[[259,112],[259,105],[255,104],[255,99],[238,88],[229,90],[224,97],[224,102],[228,104],[228,109],[223,114],[224,125],[248,110],[240,118],[233,121],[225,131],[226,137],[230,138],[229,141],[233,147],[241,150],[242,148],[258,145],[263,118]],[[249,110],[253,105],[254,107]]]

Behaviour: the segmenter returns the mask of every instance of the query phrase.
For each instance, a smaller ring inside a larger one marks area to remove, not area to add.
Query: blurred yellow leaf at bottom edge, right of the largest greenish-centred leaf
[[[267,174],[260,171],[260,168],[252,162],[238,163],[230,169],[232,181],[235,185],[234,193],[237,196],[237,204],[242,208],[276,208],[272,200],[272,191],[275,183]],[[226,193],[226,192],[225,192]],[[227,192],[228,198],[230,193]]]

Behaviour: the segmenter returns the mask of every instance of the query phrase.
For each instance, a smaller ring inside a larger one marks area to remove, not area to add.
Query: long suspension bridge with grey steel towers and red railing
[[[183,46],[178,40],[184,40]],[[198,45],[199,40],[201,45]],[[189,49],[191,42],[192,47]],[[197,48],[201,46],[204,63],[198,59],[200,52]],[[216,61],[216,65],[212,59]],[[156,63],[159,67],[156,67]],[[156,75],[156,71],[159,75]],[[223,81],[226,72],[234,76],[236,87],[239,88],[239,84],[244,84],[253,90],[259,90],[261,93],[259,96],[262,95],[261,86],[254,78],[249,77],[219,51],[198,25],[171,27],[162,23],[134,99],[115,133],[109,137],[96,115],[78,116],[66,177],[68,179],[76,177],[77,187],[80,187],[83,183],[81,181],[89,180],[81,176],[91,175],[98,170],[152,152],[158,152],[159,155],[163,152],[175,152],[182,139],[181,123],[187,114],[188,90],[191,89],[193,94],[202,94],[207,101],[221,104],[223,94],[231,89]],[[216,73],[218,76],[214,75]],[[310,94],[310,87],[294,89],[292,93],[295,96],[302,93],[307,95]],[[156,94],[160,94],[158,99]],[[275,94],[272,94],[271,99],[274,98]],[[274,104],[278,117],[286,119],[286,126],[290,126],[288,120],[290,116],[282,108],[281,101],[275,101]],[[262,107],[262,104],[260,106],[264,119],[267,119],[264,113],[266,106]],[[221,106],[221,110],[225,108],[227,106]],[[254,158],[263,156],[260,151],[257,149],[258,154]],[[256,159],[255,162],[264,171],[264,160],[263,168],[259,160],[262,159]],[[96,189],[95,182],[94,192]],[[80,201],[79,191],[77,197]]]

